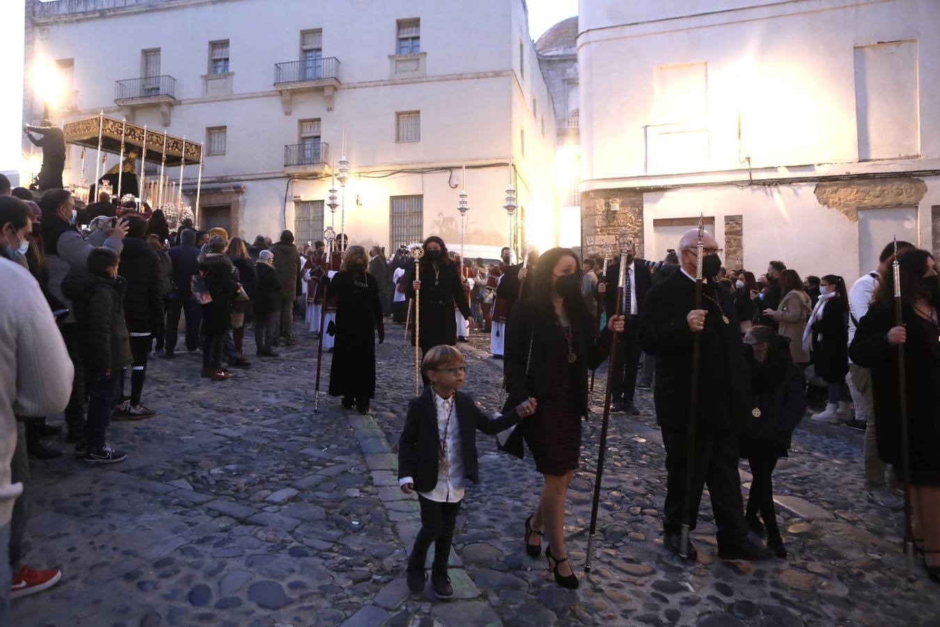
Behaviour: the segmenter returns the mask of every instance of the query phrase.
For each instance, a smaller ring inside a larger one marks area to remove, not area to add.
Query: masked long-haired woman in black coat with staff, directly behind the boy
[[[457,321],[454,306],[457,306],[463,318],[473,329],[475,324],[470,305],[463,293],[463,284],[457,265],[447,259],[447,247],[444,240],[431,235],[424,241],[424,256],[416,266],[408,269],[406,284],[410,287],[408,298],[415,298],[416,290],[421,290],[420,325],[418,341],[421,354],[427,353],[432,346],[457,344]],[[415,267],[417,275],[415,276]],[[415,345],[415,333],[412,332],[412,346]],[[422,378],[424,374],[422,373]],[[427,385],[427,379],[424,380]],[[521,401],[520,401],[521,402]],[[517,405],[519,403],[516,403]]]

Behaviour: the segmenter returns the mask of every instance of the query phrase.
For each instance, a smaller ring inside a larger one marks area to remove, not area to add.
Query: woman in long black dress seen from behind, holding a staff
[[[367,267],[366,249],[350,246],[342,270],[332,280],[323,279],[327,297],[337,297],[330,396],[343,397],[343,407],[354,406],[360,414],[368,413],[369,400],[375,398],[376,333],[380,344],[385,341],[379,285]]]

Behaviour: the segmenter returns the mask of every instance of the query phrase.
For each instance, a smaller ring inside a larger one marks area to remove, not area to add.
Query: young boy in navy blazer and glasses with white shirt
[[[405,494],[417,492],[421,530],[408,559],[408,588],[424,588],[424,563],[431,542],[434,563],[431,586],[439,599],[454,595],[447,576],[447,557],[461,509],[464,479],[479,480],[477,430],[494,435],[535,412],[535,399],[525,400],[508,414],[486,415],[469,394],[459,392],[466,367],[452,346],[435,346],[425,354],[421,369],[431,382],[408,403],[408,416],[399,438],[399,485]]]

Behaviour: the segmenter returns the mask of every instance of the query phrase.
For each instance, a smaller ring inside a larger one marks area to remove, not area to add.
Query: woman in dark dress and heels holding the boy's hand
[[[581,452],[581,418],[587,415],[587,370],[607,357],[610,334],[623,330],[623,317],[612,317],[600,337],[594,328],[581,296],[577,257],[570,248],[553,248],[540,257],[533,297],[517,302],[509,316],[506,408],[531,397],[537,409],[504,448],[522,457],[525,438],[545,478],[539,507],[525,521],[525,550],[539,556],[544,533],[549,567],[565,588],[578,586],[565,551],[564,519],[565,495]]]

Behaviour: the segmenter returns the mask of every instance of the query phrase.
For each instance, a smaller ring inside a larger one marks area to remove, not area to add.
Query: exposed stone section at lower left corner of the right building
[[[609,201],[619,212],[607,211]],[[632,238],[637,257],[643,257],[643,194],[634,189],[604,189],[581,195],[581,238],[584,255],[599,255],[604,243]]]

